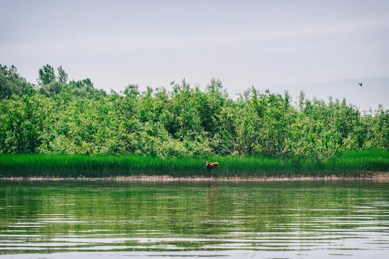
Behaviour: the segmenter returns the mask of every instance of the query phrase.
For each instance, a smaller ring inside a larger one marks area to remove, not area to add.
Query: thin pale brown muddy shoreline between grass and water
[[[0,177],[0,181],[123,181],[123,182],[209,182],[209,181],[338,181],[338,180],[373,180],[389,182],[388,173],[369,173],[360,176],[355,175],[327,175],[327,176],[290,176],[290,177],[173,177],[169,175],[134,175],[116,177]]]

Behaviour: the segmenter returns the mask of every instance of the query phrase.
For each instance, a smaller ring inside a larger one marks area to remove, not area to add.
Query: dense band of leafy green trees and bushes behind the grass
[[[271,155],[325,161],[340,151],[389,148],[389,110],[361,112],[346,100],[248,88],[233,100],[218,79],[165,87],[97,89],[62,67],[37,84],[0,65],[0,153],[159,157]]]

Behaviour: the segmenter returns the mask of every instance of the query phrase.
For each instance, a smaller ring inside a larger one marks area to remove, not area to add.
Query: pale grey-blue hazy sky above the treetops
[[[389,108],[388,0],[0,0],[0,23],[0,64],[32,83],[50,64],[108,92],[219,78]]]

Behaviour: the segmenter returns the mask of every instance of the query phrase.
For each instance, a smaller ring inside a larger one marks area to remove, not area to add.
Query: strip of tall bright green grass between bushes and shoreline
[[[217,161],[217,171],[207,171],[205,160]],[[324,176],[389,172],[389,150],[341,153],[325,163],[290,161],[264,156],[214,156],[161,159],[143,155],[0,155],[0,177],[109,177],[132,175],[194,176]]]

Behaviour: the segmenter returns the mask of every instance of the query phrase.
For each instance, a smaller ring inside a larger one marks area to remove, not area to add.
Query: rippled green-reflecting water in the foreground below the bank
[[[0,258],[388,258],[389,183],[0,182]]]

